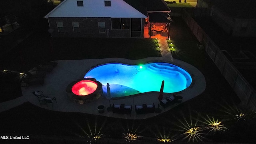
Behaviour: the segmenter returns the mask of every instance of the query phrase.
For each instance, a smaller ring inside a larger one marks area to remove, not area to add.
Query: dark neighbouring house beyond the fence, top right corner
[[[198,0],[197,7],[207,8],[212,20],[230,36],[256,36],[256,1]]]

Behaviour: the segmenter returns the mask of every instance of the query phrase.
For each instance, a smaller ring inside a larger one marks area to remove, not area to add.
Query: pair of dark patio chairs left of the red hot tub
[[[34,94],[34,96],[37,97],[38,99],[38,102],[40,103],[40,105],[44,104],[46,106],[48,106],[49,103],[52,104],[52,107],[53,107],[53,101],[55,101],[57,103],[57,100],[56,98],[49,98],[48,96],[44,96],[42,90],[39,90],[39,91],[34,91],[32,92],[32,94]]]

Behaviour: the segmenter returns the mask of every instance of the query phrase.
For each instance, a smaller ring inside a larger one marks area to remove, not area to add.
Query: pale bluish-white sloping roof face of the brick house
[[[147,18],[147,14],[138,11],[123,0],[111,0],[111,6],[105,6],[104,0],[83,0],[84,6],[77,6],[76,0],[64,0],[44,18],[49,17],[116,17]]]

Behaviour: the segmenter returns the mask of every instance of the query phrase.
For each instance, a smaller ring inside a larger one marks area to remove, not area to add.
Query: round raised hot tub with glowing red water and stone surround
[[[66,88],[67,96],[78,104],[92,102],[102,95],[102,84],[94,78],[71,82]]]

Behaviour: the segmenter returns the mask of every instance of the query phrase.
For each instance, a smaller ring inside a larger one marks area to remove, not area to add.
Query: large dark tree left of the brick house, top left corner
[[[10,24],[17,21],[28,30],[46,29],[48,22],[44,16],[53,8],[52,2],[47,0],[2,0],[1,24],[9,20]]]

